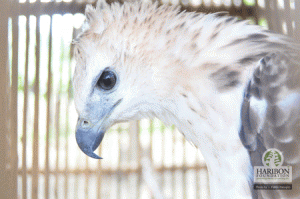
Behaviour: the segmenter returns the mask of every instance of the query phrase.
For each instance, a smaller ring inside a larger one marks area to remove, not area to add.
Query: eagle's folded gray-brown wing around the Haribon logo
[[[263,166],[266,149],[283,153],[284,166],[293,169],[292,190],[254,191],[257,198],[300,198],[299,57],[272,53],[253,73],[242,105],[240,137],[252,166]],[[298,78],[298,79],[297,79]],[[292,83],[291,83],[292,82]]]

